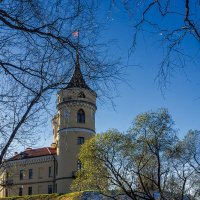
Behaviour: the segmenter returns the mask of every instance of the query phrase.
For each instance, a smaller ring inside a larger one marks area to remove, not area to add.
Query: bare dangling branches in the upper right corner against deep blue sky
[[[115,0],[111,3],[111,8],[121,7]],[[141,34],[161,44],[159,51],[163,52],[163,59],[157,80],[162,89],[168,86],[174,72],[184,69],[188,61],[193,64],[199,61],[199,0],[126,0],[121,3],[133,22],[130,52],[139,45]],[[197,48],[193,48],[194,44]]]

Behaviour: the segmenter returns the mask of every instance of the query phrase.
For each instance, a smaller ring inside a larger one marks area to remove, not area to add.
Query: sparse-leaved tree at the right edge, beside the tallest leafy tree
[[[197,198],[200,195],[199,136],[197,130],[188,131],[185,138],[180,140],[171,152],[174,169],[171,191],[180,193],[182,198],[185,193]],[[173,187],[173,185],[176,185],[176,187]]]

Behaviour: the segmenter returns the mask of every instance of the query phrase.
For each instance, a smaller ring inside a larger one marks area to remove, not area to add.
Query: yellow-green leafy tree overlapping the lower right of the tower
[[[86,141],[79,154],[83,167],[77,173],[71,190],[95,190],[108,195],[110,189],[116,189],[111,178],[113,168],[109,163],[117,166],[126,156],[124,147],[129,145],[130,139],[115,129]]]

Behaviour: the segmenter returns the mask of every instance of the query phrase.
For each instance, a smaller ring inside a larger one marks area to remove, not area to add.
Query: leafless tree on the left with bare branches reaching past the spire
[[[72,75],[78,53],[88,83],[119,78],[98,45],[96,1],[0,1],[0,165],[11,146],[35,142],[51,94]]]

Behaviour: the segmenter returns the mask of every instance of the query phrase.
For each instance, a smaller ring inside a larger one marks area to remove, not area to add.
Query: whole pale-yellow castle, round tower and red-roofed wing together
[[[16,153],[0,169],[0,197],[67,193],[81,169],[80,146],[95,134],[96,93],[85,83],[79,60],[66,88],[58,92],[51,147]]]

